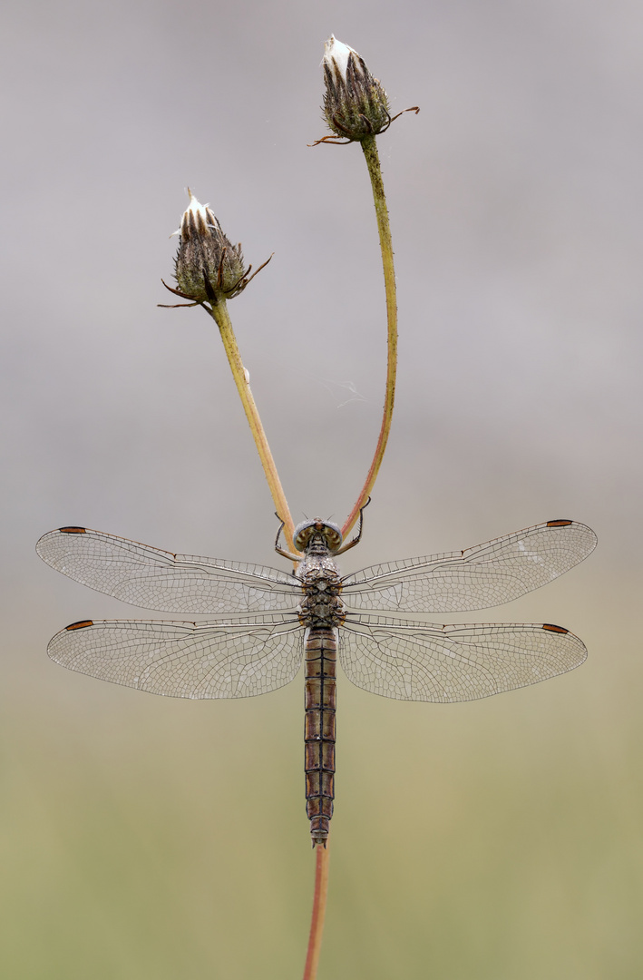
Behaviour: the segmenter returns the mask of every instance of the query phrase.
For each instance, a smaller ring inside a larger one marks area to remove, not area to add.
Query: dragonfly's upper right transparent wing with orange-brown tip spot
[[[342,579],[351,609],[456,613],[502,606],[564,574],[596,547],[575,520],[549,520],[467,551],[373,564]]]

